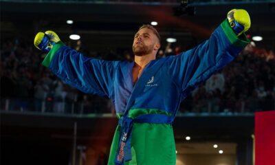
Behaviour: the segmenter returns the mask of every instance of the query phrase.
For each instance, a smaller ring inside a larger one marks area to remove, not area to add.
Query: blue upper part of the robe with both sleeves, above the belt
[[[229,36],[229,30],[225,20],[210,39],[192,50],[148,63],[135,84],[142,88],[140,94],[133,98],[129,108],[158,109],[175,116],[181,100],[199,83],[232,61],[248,43],[247,39],[241,41],[235,34]],[[58,49],[52,49],[46,57],[51,58],[50,62],[45,59],[43,65],[48,65],[54,74],[86,94],[107,96],[112,100],[116,113],[126,111],[126,104],[135,88],[131,72],[133,62],[88,58],[62,43],[54,48]],[[153,71],[155,67],[159,68],[157,72]],[[144,78],[147,79],[139,85]]]

